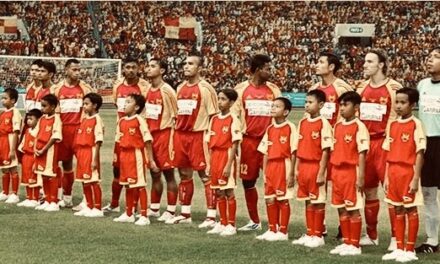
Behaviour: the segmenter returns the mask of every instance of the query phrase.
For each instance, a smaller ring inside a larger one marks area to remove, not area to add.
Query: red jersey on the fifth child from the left
[[[121,148],[143,149],[145,142],[153,141],[147,123],[139,115],[123,116],[118,121],[116,142]]]

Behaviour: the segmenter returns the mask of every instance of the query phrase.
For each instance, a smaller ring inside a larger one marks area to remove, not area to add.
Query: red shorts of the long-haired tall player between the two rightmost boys
[[[384,137],[372,138],[370,150],[365,160],[365,184],[366,189],[376,188],[385,179],[386,152],[382,149]]]

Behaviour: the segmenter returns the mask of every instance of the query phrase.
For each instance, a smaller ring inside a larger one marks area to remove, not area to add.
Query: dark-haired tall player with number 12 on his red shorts
[[[240,177],[242,179],[250,221],[240,231],[261,229],[258,215],[258,192],[255,187],[263,165],[263,154],[257,148],[267,127],[271,124],[273,99],[281,95],[280,89],[268,82],[272,63],[267,55],[257,54],[250,61],[251,77],[235,87],[238,100],[234,111],[243,124],[241,142]]]

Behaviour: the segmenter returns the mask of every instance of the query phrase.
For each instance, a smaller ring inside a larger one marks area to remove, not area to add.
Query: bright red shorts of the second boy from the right
[[[359,209],[359,192],[356,187],[357,166],[332,166],[332,206],[347,210]]]

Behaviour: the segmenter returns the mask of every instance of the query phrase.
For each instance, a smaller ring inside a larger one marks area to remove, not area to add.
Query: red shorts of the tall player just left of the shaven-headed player
[[[168,170],[172,166],[172,130],[171,128],[151,132],[153,136],[153,158],[160,170]]]

